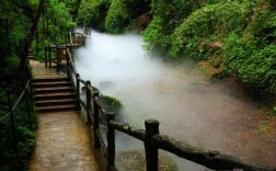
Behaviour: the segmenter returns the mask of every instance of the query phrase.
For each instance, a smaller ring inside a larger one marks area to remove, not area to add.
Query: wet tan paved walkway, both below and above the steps
[[[34,78],[62,77],[32,60]],[[93,149],[93,134],[77,111],[43,113],[38,117],[31,171],[105,171],[104,158]]]

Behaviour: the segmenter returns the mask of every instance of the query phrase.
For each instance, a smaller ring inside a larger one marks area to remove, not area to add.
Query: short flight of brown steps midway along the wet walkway
[[[72,83],[68,78],[33,79],[34,101],[39,113],[77,111]]]

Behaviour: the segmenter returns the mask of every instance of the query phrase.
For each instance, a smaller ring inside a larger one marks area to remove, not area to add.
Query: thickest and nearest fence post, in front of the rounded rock
[[[156,119],[147,119],[145,121],[145,126],[147,171],[158,171],[158,148],[152,144],[152,137],[159,135],[159,122]]]

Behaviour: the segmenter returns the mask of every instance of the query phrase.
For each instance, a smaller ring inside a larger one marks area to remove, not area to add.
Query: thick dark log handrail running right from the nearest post
[[[232,170],[243,169],[245,171],[273,171],[275,169],[261,164],[246,163],[231,156],[221,155],[218,151],[205,151],[200,148],[176,141],[168,136],[157,135],[152,138],[152,142],[159,149],[170,151],[181,158],[205,166],[209,169]]]

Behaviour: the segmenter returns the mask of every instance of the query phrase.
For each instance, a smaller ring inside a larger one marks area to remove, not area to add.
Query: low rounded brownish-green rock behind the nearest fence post
[[[120,171],[146,171],[145,150],[129,150],[117,153],[116,168]],[[159,151],[159,171],[179,171],[174,160]]]

